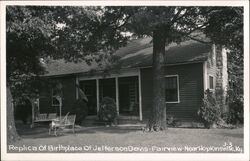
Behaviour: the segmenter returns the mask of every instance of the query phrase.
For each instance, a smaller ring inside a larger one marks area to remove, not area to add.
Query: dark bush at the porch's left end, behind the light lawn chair
[[[76,115],[75,123],[80,125],[88,114],[87,103],[82,99],[76,100],[70,114]]]

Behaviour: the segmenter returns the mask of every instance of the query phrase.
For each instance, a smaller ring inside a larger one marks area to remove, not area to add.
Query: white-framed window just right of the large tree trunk
[[[179,79],[177,75],[165,77],[165,92],[167,103],[179,102]]]

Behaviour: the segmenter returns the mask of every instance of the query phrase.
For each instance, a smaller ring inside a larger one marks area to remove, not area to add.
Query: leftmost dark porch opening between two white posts
[[[97,115],[96,108],[96,80],[84,80],[80,81],[80,88],[83,90],[88,98],[88,115]]]

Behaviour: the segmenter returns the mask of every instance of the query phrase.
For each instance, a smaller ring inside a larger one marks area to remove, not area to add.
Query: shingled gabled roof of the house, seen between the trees
[[[179,63],[195,63],[207,60],[211,45],[194,40],[187,40],[180,44],[171,43],[166,46],[166,65]],[[142,68],[152,66],[153,44],[152,38],[133,40],[127,46],[114,53],[119,58],[118,64],[124,68]],[[64,60],[51,60],[46,64],[46,76],[85,73],[91,70],[103,70],[97,63],[88,65],[86,62],[73,63]]]

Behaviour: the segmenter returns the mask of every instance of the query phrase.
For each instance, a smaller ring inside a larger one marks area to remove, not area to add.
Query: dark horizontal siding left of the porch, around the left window
[[[62,83],[63,99],[62,99],[62,114],[66,114],[72,108],[76,100],[76,86],[75,77],[68,76],[62,78],[55,78]],[[43,89],[40,96],[40,113],[57,112],[59,114],[59,107],[52,106],[52,89]]]

